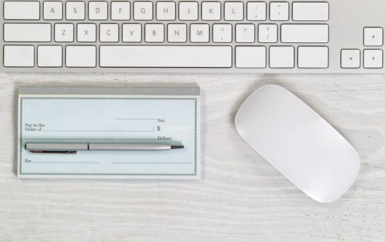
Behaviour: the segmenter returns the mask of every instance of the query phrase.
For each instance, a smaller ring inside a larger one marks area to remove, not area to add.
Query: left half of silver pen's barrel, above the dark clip
[[[28,151],[82,151],[87,149],[87,143],[26,143]]]

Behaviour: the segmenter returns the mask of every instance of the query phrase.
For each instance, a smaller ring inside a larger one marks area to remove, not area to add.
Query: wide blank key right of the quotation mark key
[[[295,2],[293,3],[294,21],[328,21],[329,3]]]

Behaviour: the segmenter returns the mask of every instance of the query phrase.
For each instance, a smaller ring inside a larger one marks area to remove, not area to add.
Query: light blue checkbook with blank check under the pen
[[[20,178],[200,176],[199,87],[22,87],[18,101]]]

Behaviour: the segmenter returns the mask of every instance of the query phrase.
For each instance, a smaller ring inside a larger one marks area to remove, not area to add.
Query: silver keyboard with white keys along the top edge
[[[4,72],[385,73],[384,0],[3,1]]]

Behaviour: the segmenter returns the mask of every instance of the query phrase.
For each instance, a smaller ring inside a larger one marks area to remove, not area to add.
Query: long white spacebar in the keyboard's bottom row
[[[230,68],[231,46],[100,46],[100,67]]]

